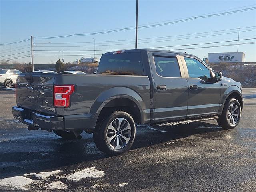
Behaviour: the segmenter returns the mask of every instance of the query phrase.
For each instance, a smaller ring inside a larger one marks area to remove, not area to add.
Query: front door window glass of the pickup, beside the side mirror
[[[189,57],[184,57],[184,59],[186,61],[188,75],[190,78],[200,78],[205,75],[207,76],[207,78],[211,77],[210,70],[200,61]]]

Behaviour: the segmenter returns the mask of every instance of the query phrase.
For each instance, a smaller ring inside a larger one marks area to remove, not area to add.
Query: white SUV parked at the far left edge
[[[16,69],[0,69],[0,85],[4,85],[5,88],[11,88],[20,73]]]

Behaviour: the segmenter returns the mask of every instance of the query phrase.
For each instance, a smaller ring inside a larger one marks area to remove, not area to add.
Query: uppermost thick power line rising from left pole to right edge
[[[234,14],[234,13],[238,13],[238,12],[245,12],[245,11],[254,10],[254,9],[256,9],[256,7],[244,8],[244,9],[234,10],[234,11],[229,11],[229,12],[222,12],[222,13],[218,13],[218,14],[208,14],[208,15],[203,15],[203,16],[193,16],[193,17],[186,18],[186,19],[177,19],[176,21],[172,21],[172,22],[164,22],[164,23],[160,23],[160,24],[152,24],[152,25],[139,26],[138,28],[151,28],[151,27],[157,27],[157,26],[164,26],[164,25],[170,25],[170,24],[179,23],[179,22],[185,22],[185,21],[194,20],[194,19],[222,16],[222,15]],[[65,37],[72,37],[72,36],[88,36],[88,35],[106,34],[106,33],[112,33],[112,32],[124,31],[124,30],[132,30],[132,29],[135,29],[135,27],[119,28],[119,29],[114,29],[114,30],[106,30],[106,31],[102,31],[102,32],[69,34],[69,35],[50,36],[50,37],[38,37],[37,39],[54,39],[54,38],[65,38]]]

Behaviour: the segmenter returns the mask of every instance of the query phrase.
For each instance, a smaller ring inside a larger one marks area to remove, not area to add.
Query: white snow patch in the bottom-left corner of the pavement
[[[0,188],[5,190],[28,190],[34,180],[23,177],[8,177],[0,180]]]

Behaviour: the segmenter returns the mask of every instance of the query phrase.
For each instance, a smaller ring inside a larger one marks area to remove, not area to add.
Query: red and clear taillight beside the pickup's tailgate
[[[69,107],[70,95],[74,92],[74,85],[54,85],[54,107]]]

